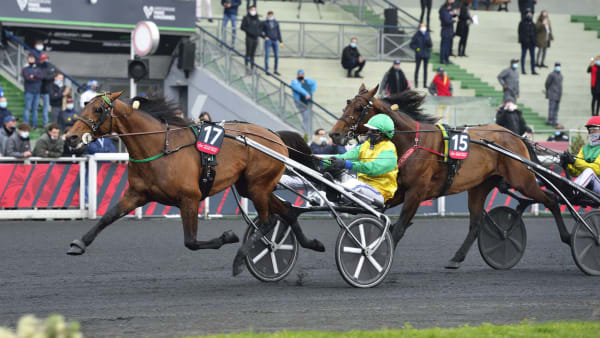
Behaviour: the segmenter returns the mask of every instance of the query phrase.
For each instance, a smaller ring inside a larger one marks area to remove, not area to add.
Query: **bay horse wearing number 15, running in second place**
[[[386,207],[402,205],[400,218],[393,225],[392,237],[397,246],[406,229],[412,224],[419,204],[443,195],[468,191],[469,232],[463,244],[447,263],[446,268],[459,268],[467,252],[479,234],[483,220],[483,205],[488,193],[502,180],[515,190],[537,202],[543,203],[556,219],[561,240],[569,244],[570,235],[560,215],[560,208],[553,195],[542,190],[532,172],[521,163],[498,152],[471,143],[469,156],[461,161],[452,184],[444,189],[448,166],[441,161],[439,153],[444,152],[443,136],[434,123],[436,118],[420,112],[423,97],[407,91],[397,97],[400,110],[390,109],[391,101],[383,102],[375,97],[379,86],[367,90],[364,84],[358,94],[347,101],[342,116],[333,126],[329,135],[337,144],[344,145],[352,137],[367,132],[364,124],[376,114],[386,114],[392,118],[395,134],[392,142],[396,146],[398,158],[408,154],[407,160],[398,167],[398,190],[386,202]],[[472,140],[488,139],[517,155],[530,159],[530,151],[523,140],[497,125],[467,128]],[[408,152],[408,153],[407,153]],[[438,154],[435,154],[437,152]],[[412,155],[410,154],[412,153]],[[443,190],[446,190],[445,193]]]

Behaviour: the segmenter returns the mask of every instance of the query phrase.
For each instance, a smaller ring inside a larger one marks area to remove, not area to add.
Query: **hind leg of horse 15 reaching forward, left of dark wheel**
[[[463,241],[463,244],[454,254],[454,257],[446,264],[446,269],[458,269],[460,263],[465,260],[473,242],[475,242],[475,239],[479,236],[481,221],[483,220],[483,204],[485,203],[485,197],[493,188],[494,182],[492,180],[487,180],[469,190],[469,232],[467,233],[467,237]]]

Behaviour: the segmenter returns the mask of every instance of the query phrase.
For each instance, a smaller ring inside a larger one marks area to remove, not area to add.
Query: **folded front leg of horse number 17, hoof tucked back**
[[[240,239],[231,231],[225,231],[221,236],[209,241],[198,241],[198,206],[199,200],[184,199],[180,204],[181,220],[183,223],[183,242],[190,250],[219,249],[224,244],[237,243]]]

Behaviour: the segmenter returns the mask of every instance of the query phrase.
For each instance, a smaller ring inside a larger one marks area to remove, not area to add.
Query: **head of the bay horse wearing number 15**
[[[342,116],[329,132],[329,136],[335,144],[346,145],[357,134],[367,131],[364,124],[375,115],[373,100],[378,89],[379,85],[367,90],[362,84],[358,89],[358,94],[353,99],[346,101]]]

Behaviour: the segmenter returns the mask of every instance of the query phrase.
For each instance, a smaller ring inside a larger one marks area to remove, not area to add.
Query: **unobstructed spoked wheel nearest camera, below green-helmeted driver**
[[[375,248],[383,235],[384,226],[377,219],[358,218],[341,229],[335,245],[335,262],[344,280],[357,288],[377,286],[387,276],[392,267],[394,245],[392,236],[386,231],[378,248]],[[354,237],[361,245],[356,243]]]

